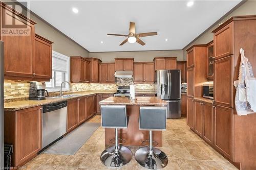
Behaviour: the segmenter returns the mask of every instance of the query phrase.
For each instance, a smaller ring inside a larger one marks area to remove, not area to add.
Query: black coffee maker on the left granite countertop
[[[45,82],[30,82],[29,85],[29,100],[44,100],[49,96],[46,90]]]

